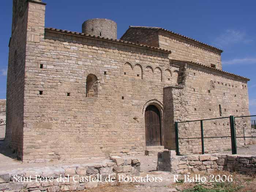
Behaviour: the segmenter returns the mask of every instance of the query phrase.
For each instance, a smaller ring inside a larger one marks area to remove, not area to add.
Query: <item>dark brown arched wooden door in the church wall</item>
[[[149,105],[145,111],[146,146],[161,146],[161,118],[158,108]]]

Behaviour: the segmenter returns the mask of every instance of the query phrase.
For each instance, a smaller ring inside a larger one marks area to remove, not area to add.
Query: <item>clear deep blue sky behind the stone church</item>
[[[256,1],[43,1],[47,3],[46,27],[80,32],[85,20],[108,18],[117,22],[118,38],[129,25],[163,27],[223,49],[223,70],[251,79],[248,83],[250,111],[256,114]],[[0,9],[0,98],[3,99],[12,0],[2,1]]]

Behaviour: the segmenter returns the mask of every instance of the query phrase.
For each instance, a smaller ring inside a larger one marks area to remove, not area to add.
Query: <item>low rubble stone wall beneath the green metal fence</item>
[[[256,156],[222,154],[176,156],[175,151],[163,151],[158,153],[157,170],[177,174],[213,173],[216,170],[256,174]]]

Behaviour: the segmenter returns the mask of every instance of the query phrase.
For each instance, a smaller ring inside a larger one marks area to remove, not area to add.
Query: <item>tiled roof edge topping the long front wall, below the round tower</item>
[[[123,40],[120,40],[120,39],[110,39],[110,38],[106,38],[106,37],[100,37],[100,36],[96,36],[96,35],[79,33],[79,32],[74,32],[74,31],[67,31],[67,30],[62,30],[62,29],[55,29],[55,28],[45,28],[45,30],[55,31],[55,32],[58,32],[58,33],[71,34],[71,35],[79,35],[79,36],[82,36],[82,37],[103,39],[103,40],[106,40],[106,41],[118,42],[118,43],[126,44],[126,45],[133,45],[133,46],[136,46],[136,47],[139,47],[139,48],[153,49],[155,51],[164,52],[164,53],[172,53],[170,50],[167,50],[167,49],[161,49],[161,48],[157,48],[157,47],[154,47],[154,46],[143,45],[143,44],[135,44],[133,42],[123,41]]]

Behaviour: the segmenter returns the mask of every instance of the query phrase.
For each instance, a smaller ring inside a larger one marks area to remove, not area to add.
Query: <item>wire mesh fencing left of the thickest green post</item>
[[[177,122],[176,127],[180,155],[231,153],[229,117]]]

